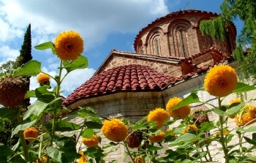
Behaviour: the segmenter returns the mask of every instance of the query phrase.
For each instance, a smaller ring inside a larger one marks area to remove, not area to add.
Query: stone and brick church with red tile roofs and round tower
[[[226,41],[200,32],[202,20],[217,16],[214,12],[182,10],[154,20],[135,37],[135,52],[111,50],[93,77],[67,96],[63,104],[74,111],[89,106],[107,117],[136,121],[156,107],[165,108],[171,97],[185,97],[193,89],[203,87],[206,72],[214,64],[236,66],[232,58],[236,48],[233,23],[227,28]],[[206,92],[198,96],[216,104],[214,96]],[[79,118],[70,121],[83,123]],[[102,145],[108,144],[101,137]],[[125,149],[117,148],[106,158],[107,162],[122,162]],[[215,159],[221,162],[223,155],[217,154]]]

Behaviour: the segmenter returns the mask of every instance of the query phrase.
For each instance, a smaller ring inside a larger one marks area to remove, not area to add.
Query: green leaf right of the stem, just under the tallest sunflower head
[[[85,69],[88,67],[88,59],[85,56],[79,56],[75,61],[63,61],[63,65],[67,72],[75,69]]]

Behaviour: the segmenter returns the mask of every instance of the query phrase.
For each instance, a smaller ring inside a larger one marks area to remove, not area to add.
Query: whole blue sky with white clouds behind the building
[[[54,41],[62,31],[78,31],[84,39],[83,56],[89,67],[72,72],[64,80],[64,96],[88,80],[111,49],[134,51],[136,35],[157,18],[178,10],[204,10],[219,13],[222,0],[0,0],[0,64],[15,60],[31,23],[32,46]],[[241,30],[241,22],[235,22]],[[32,48],[33,59],[42,69],[56,75],[59,59],[50,50]],[[54,85],[54,83],[53,83]],[[31,89],[37,88],[31,78]]]

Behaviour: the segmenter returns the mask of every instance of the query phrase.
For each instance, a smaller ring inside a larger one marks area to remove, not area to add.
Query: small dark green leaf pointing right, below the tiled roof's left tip
[[[71,132],[80,129],[82,126],[61,120],[56,123],[56,132]]]

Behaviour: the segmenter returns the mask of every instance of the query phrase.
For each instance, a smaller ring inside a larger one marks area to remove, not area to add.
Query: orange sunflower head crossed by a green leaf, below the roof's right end
[[[169,99],[169,101],[167,102],[167,105],[166,105],[167,113],[174,119],[175,118],[184,119],[190,113],[189,105],[184,105],[183,107],[179,107],[178,109],[171,110],[172,107],[174,107],[181,101],[182,101],[181,98],[175,96],[172,99]]]

